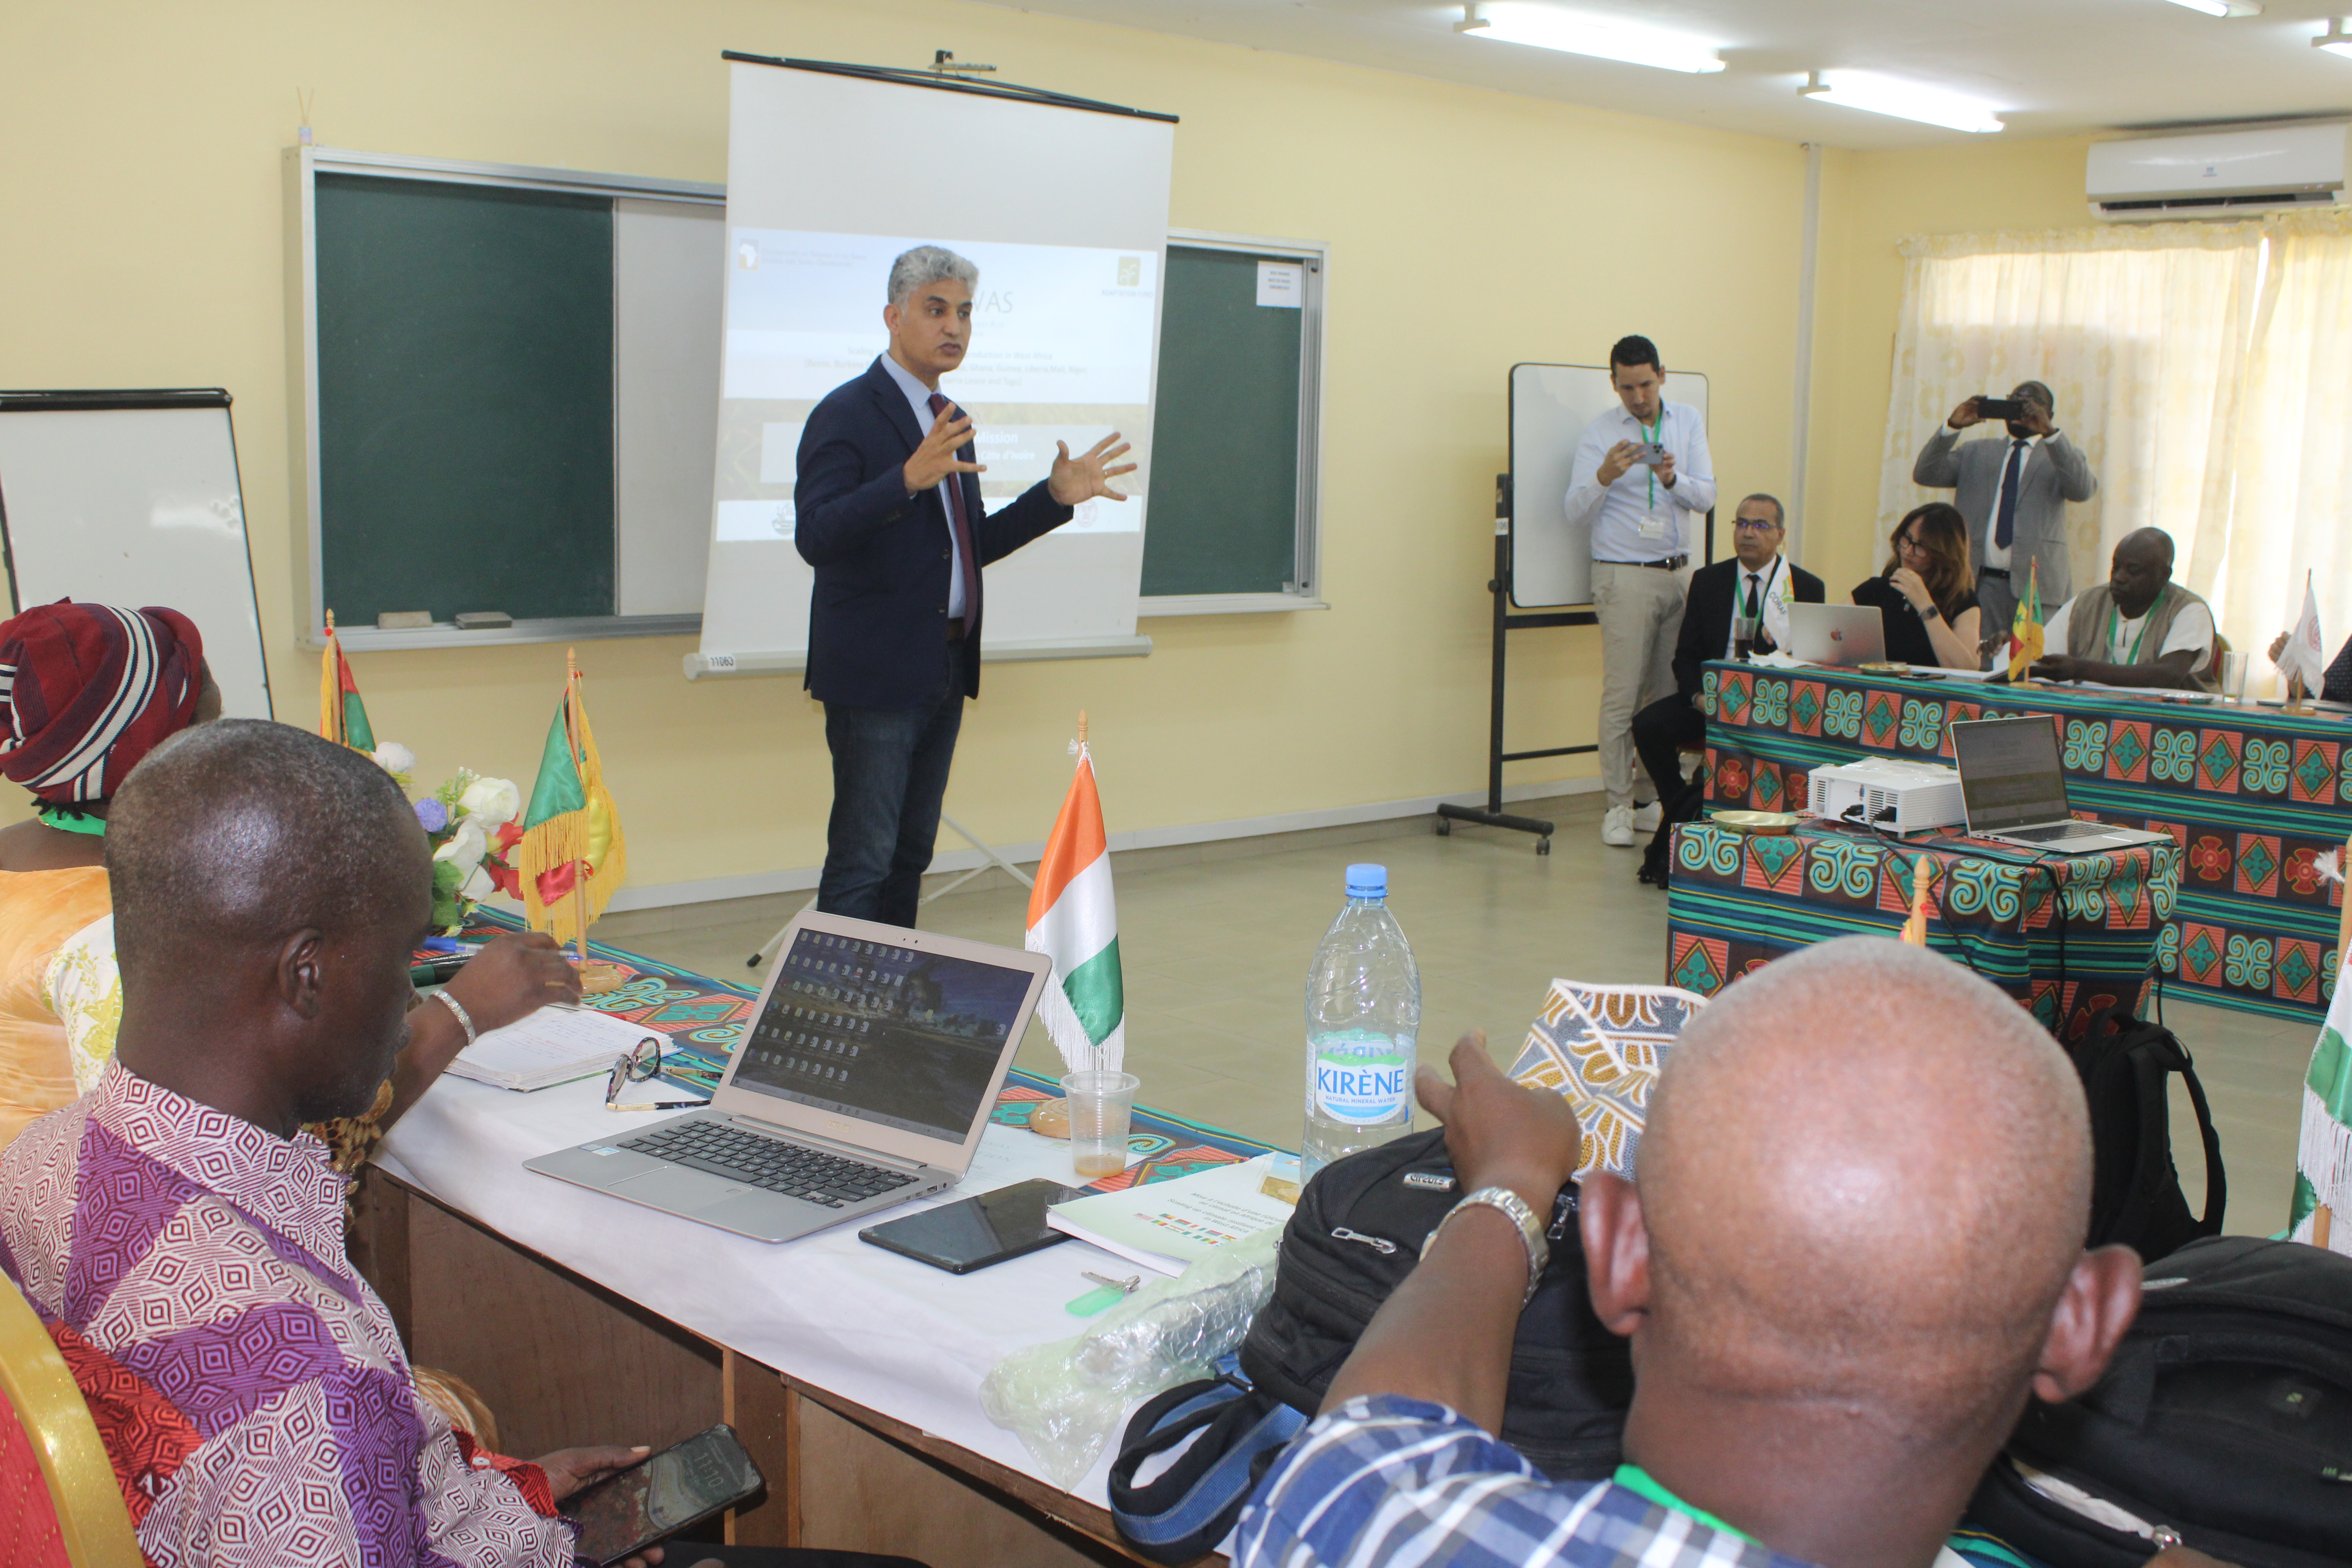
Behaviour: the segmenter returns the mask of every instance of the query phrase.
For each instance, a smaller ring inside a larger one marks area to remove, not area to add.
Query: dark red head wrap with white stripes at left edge
[[[205,639],[176,609],[28,609],[0,625],[0,776],[47,804],[106,799],[202,689]]]

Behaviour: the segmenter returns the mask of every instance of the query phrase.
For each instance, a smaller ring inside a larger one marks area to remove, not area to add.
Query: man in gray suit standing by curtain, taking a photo
[[[2044,621],[2074,597],[2065,503],[2098,494],[2091,461],[2051,423],[2051,390],[2039,381],[2020,381],[2009,395],[2023,404],[2023,416],[2006,421],[2006,440],[1959,444],[1959,433],[1985,418],[1976,409],[1983,397],[1971,397],[1952,409],[1912,463],[1912,484],[1959,491],[1959,515],[1969,520],[1969,557],[1976,564],[1976,602],[1985,611],[1978,625],[1987,639],[2009,635],[2034,574],[2042,578]]]

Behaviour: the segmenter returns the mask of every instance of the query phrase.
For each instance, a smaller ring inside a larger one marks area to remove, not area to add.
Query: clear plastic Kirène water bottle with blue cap
[[[1421,971],[1388,912],[1388,867],[1348,867],[1348,907],[1308,969],[1308,1128],[1301,1178],[1414,1126]]]

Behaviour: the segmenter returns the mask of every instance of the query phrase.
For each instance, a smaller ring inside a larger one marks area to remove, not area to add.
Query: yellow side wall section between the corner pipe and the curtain
[[[1992,141],[1912,153],[1825,153],[1806,463],[1806,567],[1830,599],[1886,562],[1879,454],[1893,381],[1903,235],[2089,228],[2089,139]],[[1959,402],[1966,390],[1955,390]],[[1919,430],[1926,440],[1933,430]]]

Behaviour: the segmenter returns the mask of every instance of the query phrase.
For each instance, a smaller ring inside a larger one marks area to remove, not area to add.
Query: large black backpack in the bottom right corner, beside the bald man
[[[2025,1410],[1969,1519],[2051,1568],[2138,1568],[2173,1540],[2241,1568],[2352,1561],[2352,1258],[2256,1237],[2147,1265],[2140,1316],[2082,1399]],[[2091,1523],[2011,1460],[2157,1528]]]

